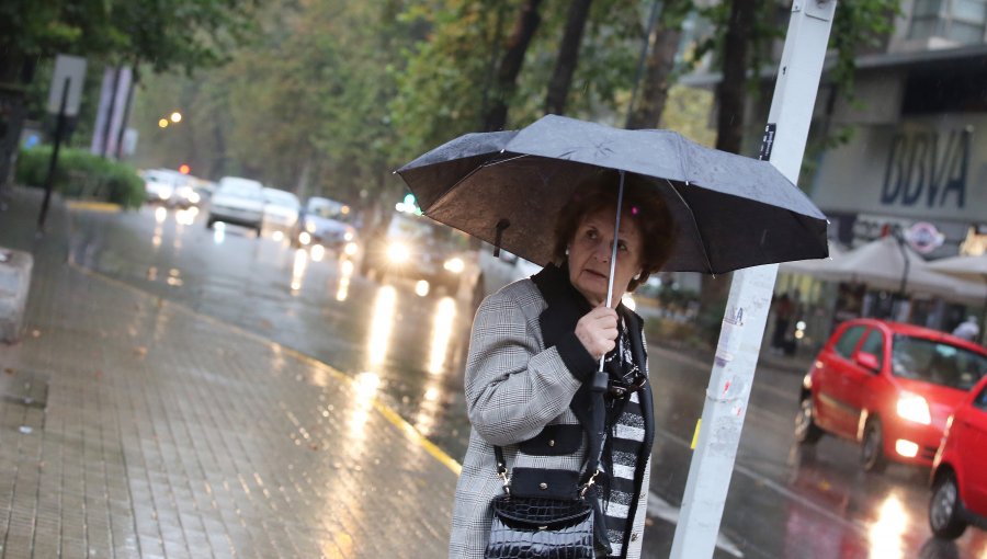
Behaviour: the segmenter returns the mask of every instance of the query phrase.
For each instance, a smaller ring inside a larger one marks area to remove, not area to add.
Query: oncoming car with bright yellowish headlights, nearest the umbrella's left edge
[[[386,276],[424,280],[430,288],[455,296],[476,277],[475,255],[465,233],[413,214],[396,212],[384,235],[371,239],[361,272],[378,281]],[[469,286],[472,287],[472,286]]]

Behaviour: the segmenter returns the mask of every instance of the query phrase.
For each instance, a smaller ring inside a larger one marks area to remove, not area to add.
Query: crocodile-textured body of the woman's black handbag
[[[499,495],[487,559],[593,559],[593,509],[585,499]]]

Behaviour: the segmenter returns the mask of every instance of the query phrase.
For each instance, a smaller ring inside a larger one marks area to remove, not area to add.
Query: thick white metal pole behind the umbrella
[[[792,5],[768,117],[768,135],[774,137],[765,140],[773,149],[765,155],[793,183],[802,167],[836,4],[836,0],[795,0]],[[734,273],[672,543],[673,559],[713,556],[776,275],[778,264]]]

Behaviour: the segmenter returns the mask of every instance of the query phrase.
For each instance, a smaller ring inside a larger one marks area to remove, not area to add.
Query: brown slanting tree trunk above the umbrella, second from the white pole
[[[648,39],[650,49],[644,91],[640,102],[627,118],[627,128],[657,128],[661,122],[661,113],[665,112],[665,104],[668,101],[668,88],[671,85],[669,77],[676,65],[676,53],[679,50],[681,37],[681,27],[669,27],[663,20],[651,33]]]

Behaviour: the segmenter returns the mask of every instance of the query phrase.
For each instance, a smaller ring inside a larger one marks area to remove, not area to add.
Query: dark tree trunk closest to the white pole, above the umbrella
[[[744,140],[747,102],[747,53],[758,0],[731,0],[730,20],[723,45],[723,80],[717,88],[716,149],[739,153]]]

